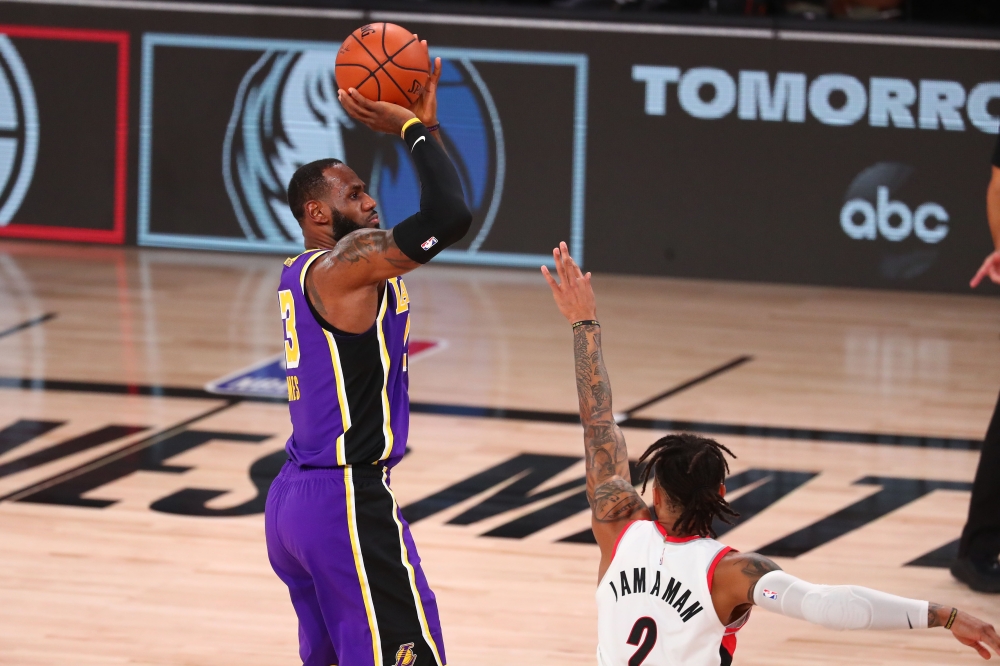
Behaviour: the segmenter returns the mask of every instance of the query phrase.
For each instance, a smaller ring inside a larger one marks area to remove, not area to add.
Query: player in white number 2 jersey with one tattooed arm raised
[[[830,629],[945,627],[983,659],[1000,652],[994,628],[950,606],[855,585],[814,585],[756,553],[712,537],[716,518],[737,514],[725,500],[722,444],[667,435],[639,459],[650,509],[632,485],[625,437],[615,424],[601,327],[590,284],[566,244],[553,250],[558,281],[542,267],[559,311],[573,324],[573,355],[584,427],[587,499],[601,549],[599,666],[727,666],[736,632],[757,605]]]

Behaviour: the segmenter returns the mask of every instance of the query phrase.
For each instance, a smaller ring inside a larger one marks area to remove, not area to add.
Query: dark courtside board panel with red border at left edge
[[[129,34],[0,25],[0,237],[123,243]]]

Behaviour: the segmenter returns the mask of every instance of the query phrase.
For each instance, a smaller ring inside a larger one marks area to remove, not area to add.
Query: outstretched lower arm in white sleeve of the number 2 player
[[[835,630],[944,627],[983,659],[1000,654],[1000,637],[987,622],[928,601],[907,599],[858,585],[815,585],[781,570],[757,553],[730,552],[719,563],[712,601],[723,622],[751,606]]]

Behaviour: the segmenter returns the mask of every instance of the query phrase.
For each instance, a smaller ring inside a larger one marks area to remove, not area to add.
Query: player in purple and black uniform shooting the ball
[[[420,210],[379,229],[347,165],[306,164],[288,185],[306,252],[285,261],[278,300],[293,432],[267,497],[271,566],[288,585],[306,666],[444,666],[434,594],[389,488],[409,427],[409,296],[399,277],[469,230],[458,173],[435,134],[440,59],[413,111],[353,88],[340,103],[403,137]]]

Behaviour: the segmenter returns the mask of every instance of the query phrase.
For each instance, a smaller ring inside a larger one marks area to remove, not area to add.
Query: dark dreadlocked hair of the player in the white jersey
[[[640,465],[645,463],[642,491],[652,476],[660,489],[683,507],[674,531],[715,537],[712,523],[716,518],[732,525],[732,519],[739,517],[719,496],[719,486],[729,473],[723,453],[736,457],[714,439],[681,433],[658,439],[639,458]]]

